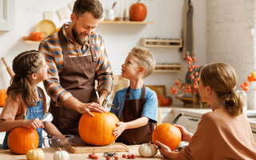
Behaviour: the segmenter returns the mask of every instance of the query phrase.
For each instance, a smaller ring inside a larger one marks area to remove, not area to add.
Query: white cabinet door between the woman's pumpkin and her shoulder
[[[193,117],[193,116],[184,114],[181,118],[178,119],[177,124],[184,126],[186,130],[194,134],[194,132],[198,128],[199,121],[200,121],[200,118],[198,117]]]

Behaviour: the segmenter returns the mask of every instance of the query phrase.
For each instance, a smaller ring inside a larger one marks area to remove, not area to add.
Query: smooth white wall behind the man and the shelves
[[[120,0],[114,10],[120,14]],[[126,9],[126,0],[123,1],[123,9]],[[9,66],[12,59],[25,50],[38,49],[38,44],[26,44],[22,36],[27,36],[35,30],[38,22],[42,21],[43,13],[54,12],[54,23],[57,27],[63,22],[58,19],[57,10],[66,8],[68,14],[71,10],[68,5],[73,0],[16,0],[14,30],[0,31],[0,56],[5,57]],[[110,8],[114,0],[102,0],[104,8]],[[130,0],[130,6],[137,0]],[[106,42],[106,51],[109,55],[114,74],[121,74],[121,65],[125,61],[127,53],[133,46],[140,45],[142,37],[147,38],[181,38],[182,9],[184,0],[142,0],[146,4],[148,14],[145,21],[154,22],[147,25],[114,25],[100,24],[97,31],[100,32]],[[194,5],[194,49],[198,64],[206,63],[206,0],[192,1]],[[186,75],[186,62],[182,60],[181,53],[175,48],[150,48],[157,62],[182,62],[183,70],[174,74],[152,74],[146,78],[147,85],[166,85],[166,92],[177,78],[184,79]],[[9,86],[10,76],[5,66],[0,62],[0,89]],[[172,95],[174,98],[174,96]],[[182,104],[174,98],[174,104]]]

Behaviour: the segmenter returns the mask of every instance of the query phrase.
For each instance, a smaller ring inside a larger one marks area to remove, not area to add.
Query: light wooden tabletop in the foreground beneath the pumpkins
[[[143,158],[138,154],[138,147],[139,145],[131,145],[130,146],[130,153],[129,152],[117,152],[118,157],[120,160],[125,160],[128,158],[122,158],[122,154],[134,154],[136,156],[135,159],[166,159],[164,158],[158,151],[158,154],[156,154],[153,158]],[[53,160],[54,150],[46,150],[45,148],[42,149],[45,153],[44,160]],[[89,154],[71,154],[70,153],[70,160],[86,160],[90,159],[88,157]],[[98,155],[99,160],[105,160],[106,158],[103,156],[103,153],[96,153]],[[0,159],[4,160],[26,160],[25,154],[13,154],[10,150],[0,150]],[[90,159],[91,160],[91,159]],[[111,160],[114,160],[114,158],[111,158]]]

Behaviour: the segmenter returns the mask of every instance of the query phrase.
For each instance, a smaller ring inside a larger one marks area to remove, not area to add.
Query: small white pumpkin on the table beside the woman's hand
[[[158,153],[158,148],[154,146],[154,144],[152,144],[151,142],[144,143],[138,147],[138,153],[142,157],[150,158]]]

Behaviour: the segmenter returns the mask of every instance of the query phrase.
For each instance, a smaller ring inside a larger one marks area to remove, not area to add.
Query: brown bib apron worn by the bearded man
[[[63,29],[62,29],[63,30]],[[96,68],[96,52],[90,38],[90,56],[70,58],[66,38],[62,30],[58,31],[58,38],[62,46],[63,70],[58,74],[61,86],[69,91],[74,98],[81,102],[96,102],[97,95],[94,90]],[[82,114],[65,106],[55,106],[50,100],[50,113],[54,115],[53,123],[62,134],[78,135],[78,122]]]

